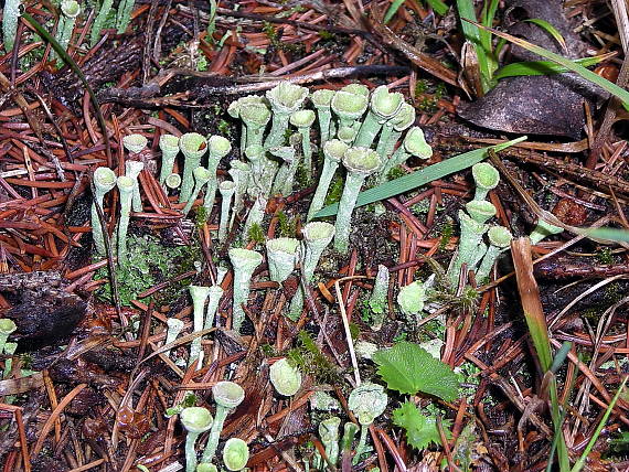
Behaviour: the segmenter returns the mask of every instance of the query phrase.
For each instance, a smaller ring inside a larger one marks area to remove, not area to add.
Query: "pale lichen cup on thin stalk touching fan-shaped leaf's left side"
[[[361,384],[350,393],[348,407],[361,423],[361,436],[352,464],[355,465],[359,463],[360,457],[365,448],[369,427],[384,412],[387,401],[388,398],[384,393],[384,387],[369,382]]]

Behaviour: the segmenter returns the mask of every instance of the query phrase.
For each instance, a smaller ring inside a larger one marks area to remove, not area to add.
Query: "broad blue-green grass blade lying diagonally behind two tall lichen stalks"
[[[403,175],[399,179],[385,182],[381,185],[374,186],[373,189],[361,192],[359,194],[356,206],[363,206],[373,202],[386,200],[401,193],[408,192],[409,190],[417,189],[418,186],[426,185],[434,180],[441,179],[446,175],[462,171],[467,168],[471,168],[473,164],[487,158],[487,151],[489,149],[501,151],[509,148],[510,146],[516,144],[518,142],[522,142],[525,139],[526,137],[523,136],[521,138],[513,139],[511,141],[507,141],[497,146],[475,149],[473,151],[455,155],[454,158],[437,162],[436,164],[429,165],[425,169]],[[320,218],[323,216],[332,216],[337,214],[338,210],[339,204],[334,203],[333,205],[326,206],[323,210],[317,213],[314,217]]]

